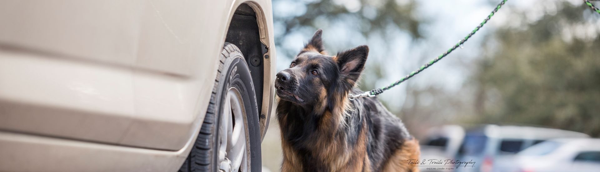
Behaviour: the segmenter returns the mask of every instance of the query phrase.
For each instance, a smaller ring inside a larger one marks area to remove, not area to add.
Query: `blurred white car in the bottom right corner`
[[[562,138],[544,141],[515,156],[506,172],[600,171],[600,139]]]

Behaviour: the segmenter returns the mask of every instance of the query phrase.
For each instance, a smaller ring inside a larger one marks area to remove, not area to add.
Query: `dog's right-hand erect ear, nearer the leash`
[[[340,75],[351,84],[361,76],[362,69],[365,68],[369,47],[361,45],[348,51],[338,52],[334,57],[340,67]]]

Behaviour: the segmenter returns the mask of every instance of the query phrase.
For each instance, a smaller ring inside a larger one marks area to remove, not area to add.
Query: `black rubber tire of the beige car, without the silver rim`
[[[215,79],[211,100],[206,110],[206,117],[196,138],[196,143],[194,143],[190,155],[185,159],[179,171],[218,171],[220,163],[217,162],[218,146],[220,144],[220,135],[218,135],[220,121],[218,119],[223,113],[225,94],[232,87],[239,90],[246,111],[246,131],[248,131],[248,138],[250,138],[250,143],[247,143],[250,148],[250,155],[247,158],[250,160],[250,168],[248,169],[250,171],[261,171],[259,111],[252,83],[252,77],[244,60],[244,55],[237,46],[225,43],[221,52],[217,79]]]

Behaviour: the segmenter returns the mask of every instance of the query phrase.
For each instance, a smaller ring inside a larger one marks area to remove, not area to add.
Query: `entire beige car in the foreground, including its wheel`
[[[0,1],[0,171],[260,171],[271,1]]]

